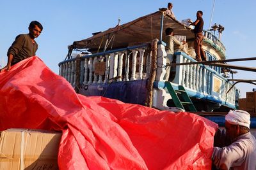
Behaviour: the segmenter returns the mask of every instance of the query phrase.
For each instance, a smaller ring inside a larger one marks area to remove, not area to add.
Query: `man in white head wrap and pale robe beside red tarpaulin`
[[[219,169],[256,169],[256,140],[249,131],[250,114],[243,110],[229,111],[225,128],[232,144],[214,147],[212,163]]]

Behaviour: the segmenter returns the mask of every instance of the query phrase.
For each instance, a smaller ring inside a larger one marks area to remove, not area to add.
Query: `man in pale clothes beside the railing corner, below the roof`
[[[178,45],[179,48],[183,48],[183,45],[180,43],[180,41],[175,38],[173,36],[173,29],[172,28],[166,28],[165,29],[165,34],[166,34],[166,37],[164,38],[164,42],[166,43],[166,46],[165,46],[165,50],[166,50],[166,53],[167,53],[167,57],[166,57],[166,64],[171,64],[172,61],[173,61],[173,53],[174,53],[174,45]],[[186,41],[183,41],[182,42],[183,44],[186,43]],[[170,71],[171,71],[171,67],[170,66],[167,66],[166,67],[166,74],[164,76],[164,79],[166,81],[169,80],[169,76],[170,76]]]

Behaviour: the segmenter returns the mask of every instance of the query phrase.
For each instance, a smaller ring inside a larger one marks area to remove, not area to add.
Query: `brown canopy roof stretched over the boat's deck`
[[[112,48],[138,45],[150,42],[155,38],[159,39],[162,14],[164,14],[163,36],[165,35],[164,30],[167,27],[171,27],[174,29],[175,35],[186,36],[186,39],[194,38],[194,34],[189,27],[168,15],[166,11],[159,9],[159,11],[137,18],[126,24],[116,25],[116,27],[109,28],[103,32],[96,32],[90,38],[74,41],[72,48],[98,49],[99,46],[104,48],[106,39],[111,39],[111,37],[113,37],[113,44],[111,42]]]

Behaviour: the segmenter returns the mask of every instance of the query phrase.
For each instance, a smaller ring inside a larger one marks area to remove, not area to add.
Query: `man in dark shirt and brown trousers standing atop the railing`
[[[206,61],[205,53],[202,48],[202,42],[204,39],[204,34],[203,34],[203,27],[204,27],[204,20],[202,18],[203,16],[203,11],[197,11],[196,12],[196,21],[192,22],[189,20],[191,24],[189,25],[194,25],[194,34],[195,34],[195,41],[194,41],[194,48],[196,52],[196,60],[197,61]]]

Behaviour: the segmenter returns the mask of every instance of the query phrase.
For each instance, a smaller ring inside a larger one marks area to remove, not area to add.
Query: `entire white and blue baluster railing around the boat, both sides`
[[[186,53],[175,54],[177,63],[195,62]],[[164,44],[160,42],[157,46],[156,81],[166,81],[164,80],[165,57]],[[151,50],[147,44],[92,55],[79,54],[74,59],[60,62],[60,75],[66,78],[73,87],[109,83],[110,81],[145,80],[150,77],[151,58]],[[233,88],[227,93],[232,83],[209,66],[202,64],[177,66],[172,82],[183,85],[197,94],[209,95],[219,101],[222,99],[235,104],[236,89]]]

